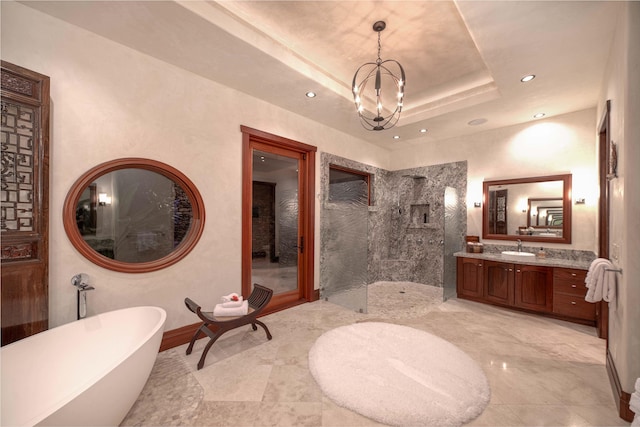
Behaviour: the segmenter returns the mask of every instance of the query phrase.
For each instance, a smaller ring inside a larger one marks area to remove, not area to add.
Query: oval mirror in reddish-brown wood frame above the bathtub
[[[145,273],[175,264],[204,230],[204,203],[195,185],[164,163],[125,158],[100,164],[69,190],[64,229],[94,264]]]

